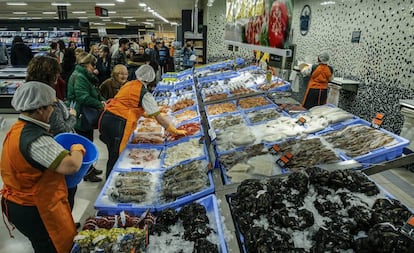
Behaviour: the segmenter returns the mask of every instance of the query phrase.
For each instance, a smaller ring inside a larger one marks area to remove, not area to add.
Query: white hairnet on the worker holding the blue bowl
[[[30,81],[16,89],[11,104],[16,111],[24,112],[51,105],[55,99],[56,91],[52,87]]]

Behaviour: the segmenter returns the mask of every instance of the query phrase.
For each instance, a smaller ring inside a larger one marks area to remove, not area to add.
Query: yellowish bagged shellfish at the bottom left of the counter
[[[146,230],[128,228],[97,228],[80,231],[73,241],[77,244],[77,253],[143,253],[146,252]]]

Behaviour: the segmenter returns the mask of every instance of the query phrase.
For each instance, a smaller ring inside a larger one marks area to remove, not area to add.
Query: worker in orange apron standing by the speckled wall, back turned
[[[302,101],[302,106],[310,109],[317,105],[326,104],[328,97],[328,82],[333,78],[333,69],[328,65],[329,54],[326,52],[318,56],[318,65],[304,68],[301,73],[310,75],[308,88]]]

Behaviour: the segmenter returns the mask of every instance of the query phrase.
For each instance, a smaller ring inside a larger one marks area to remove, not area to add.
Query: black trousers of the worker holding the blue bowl
[[[35,253],[57,252],[36,206],[22,206],[1,198],[1,208],[8,214],[9,222],[30,240]]]

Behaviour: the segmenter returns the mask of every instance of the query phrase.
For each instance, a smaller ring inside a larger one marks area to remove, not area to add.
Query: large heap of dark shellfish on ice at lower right
[[[230,197],[245,252],[413,252],[412,215],[354,170],[248,179]]]

